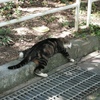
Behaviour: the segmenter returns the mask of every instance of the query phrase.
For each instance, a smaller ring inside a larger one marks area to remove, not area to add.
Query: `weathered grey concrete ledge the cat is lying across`
[[[77,59],[81,58],[97,49],[100,49],[100,39],[99,37],[88,36],[84,39],[75,39],[72,41],[73,46],[69,51],[72,58]],[[10,63],[7,63],[3,66],[0,66],[0,93],[3,93],[6,90],[9,90],[27,80],[35,77],[33,71],[35,64],[30,62],[24,67],[16,70],[8,70],[9,65],[18,63],[20,60],[15,60]],[[51,71],[55,67],[65,64],[67,61],[61,54],[56,54],[50,58],[48,65],[45,69],[46,72]]]

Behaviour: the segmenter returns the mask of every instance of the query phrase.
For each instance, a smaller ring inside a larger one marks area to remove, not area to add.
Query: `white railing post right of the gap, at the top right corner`
[[[91,18],[91,9],[92,9],[92,3],[99,0],[88,0],[88,10],[87,10],[87,27],[89,27],[90,24],[90,18]]]

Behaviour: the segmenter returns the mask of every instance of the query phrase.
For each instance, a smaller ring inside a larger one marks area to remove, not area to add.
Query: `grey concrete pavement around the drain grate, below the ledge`
[[[72,65],[72,64],[73,63],[68,63],[67,66]],[[78,61],[77,66],[100,74],[100,52],[95,51],[95,52],[90,53],[89,55],[83,57],[80,61]],[[54,73],[56,70],[63,69],[64,67],[65,66],[60,66],[60,67],[54,69],[53,71],[49,72],[49,74]],[[31,79],[28,82],[21,84],[3,94],[1,94],[0,96],[9,94],[10,92],[16,91],[22,87],[27,86],[28,84],[34,83],[40,79],[41,79],[41,77],[35,77],[34,79]],[[89,95],[86,100],[100,100],[100,90],[96,91],[94,94]]]

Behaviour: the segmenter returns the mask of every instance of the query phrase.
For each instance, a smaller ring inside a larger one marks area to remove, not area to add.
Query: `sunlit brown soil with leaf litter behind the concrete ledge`
[[[65,5],[64,3],[59,2],[59,0],[48,0],[48,2],[44,2],[44,4],[38,0],[36,1],[37,2],[34,3],[35,5],[29,5],[27,4],[27,2],[25,2],[24,4],[20,3],[20,7],[18,9],[20,9],[21,15],[26,16],[28,14],[37,13]],[[74,3],[74,1],[68,3]],[[96,7],[98,8],[99,5],[97,5]],[[12,13],[12,15],[13,16],[11,17],[11,19],[16,18],[15,13]],[[82,23],[82,21],[84,20],[86,21],[86,11],[80,14],[80,18],[80,23]],[[7,18],[0,16],[0,21],[4,20],[7,20]],[[97,18],[97,22],[100,23],[100,19],[98,20]],[[48,32],[41,33],[33,29],[33,27],[43,25],[47,26],[50,30]],[[69,9],[54,14],[49,14],[43,17],[34,18],[28,21],[5,26],[4,28],[9,28],[11,30],[9,36],[13,40],[13,44],[0,46],[0,65],[17,59],[19,51],[25,50],[33,46],[40,40],[48,37],[64,37],[66,35],[72,34],[74,31],[74,9]]]

